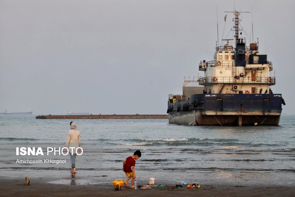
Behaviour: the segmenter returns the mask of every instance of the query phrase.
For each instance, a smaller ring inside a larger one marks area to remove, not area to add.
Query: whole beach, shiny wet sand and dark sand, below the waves
[[[137,183],[148,182],[148,171],[137,172]],[[6,171],[1,176],[0,196],[294,196],[294,173],[256,172],[167,172],[157,175],[155,186],[150,190],[134,190],[123,187],[115,191],[113,177],[118,171],[77,170],[71,175],[66,170],[18,170]],[[19,175],[19,176],[17,176]],[[24,177],[30,176],[30,185],[24,185]],[[42,177],[40,176],[42,175]],[[177,176],[173,176],[177,175]],[[173,176],[173,177],[171,177]],[[170,178],[169,178],[170,177]],[[117,178],[124,178],[123,175]],[[201,184],[200,189],[178,189],[178,180]],[[157,188],[157,184],[166,184]]]

